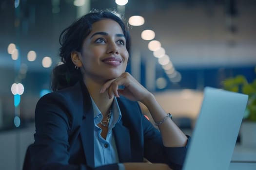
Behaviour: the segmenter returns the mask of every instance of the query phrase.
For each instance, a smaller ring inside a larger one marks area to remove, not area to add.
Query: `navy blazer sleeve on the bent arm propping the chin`
[[[190,137],[185,147],[165,147],[158,129],[143,115],[144,155],[152,163],[166,163],[173,170],[181,170],[187,153]]]

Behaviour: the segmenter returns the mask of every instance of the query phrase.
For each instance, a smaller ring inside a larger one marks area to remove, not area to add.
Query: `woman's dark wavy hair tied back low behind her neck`
[[[102,19],[116,21],[125,36],[126,49],[130,52],[130,34],[128,24],[117,12],[111,10],[93,10],[77,19],[72,25],[64,29],[59,36],[59,57],[63,64],[56,66],[52,71],[51,87],[53,91],[75,85],[82,80],[80,69],[76,69],[71,60],[72,51],[81,51],[84,39],[92,31],[92,24]]]

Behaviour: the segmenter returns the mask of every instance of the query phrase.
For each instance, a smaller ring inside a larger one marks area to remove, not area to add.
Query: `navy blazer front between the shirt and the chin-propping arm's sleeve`
[[[122,113],[122,121],[116,126],[116,143],[120,162],[142,162],[143,161],[143,130],[138,103],[118,98],[118,105]],[[120,129],[119,129],[120,128]],[[114,128],[115,129],[115,128]],[[129,154],[129,155],[128,155]]]

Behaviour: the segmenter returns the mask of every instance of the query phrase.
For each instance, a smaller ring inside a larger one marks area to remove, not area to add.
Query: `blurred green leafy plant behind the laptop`
[[[245,76],[237,75],[224,80],[222,83],[225,90],[240,92],[249,96],[244,118],[249,121],[256,121],[256,79],[252,83],[248,83]]]

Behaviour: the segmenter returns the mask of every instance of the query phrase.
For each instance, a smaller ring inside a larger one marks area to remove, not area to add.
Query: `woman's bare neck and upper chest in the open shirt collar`
[[[113,102],[113,97],[109,99],[107,91],[105,93],[99,93],[102,88],[102,83],[95,82],[93,80],[84,79],[84,84],[86,85],[89,94],[93,98],[94,102],[98,106],[98,109],[102,113],[103,117],[108,114],[110,106]]]

